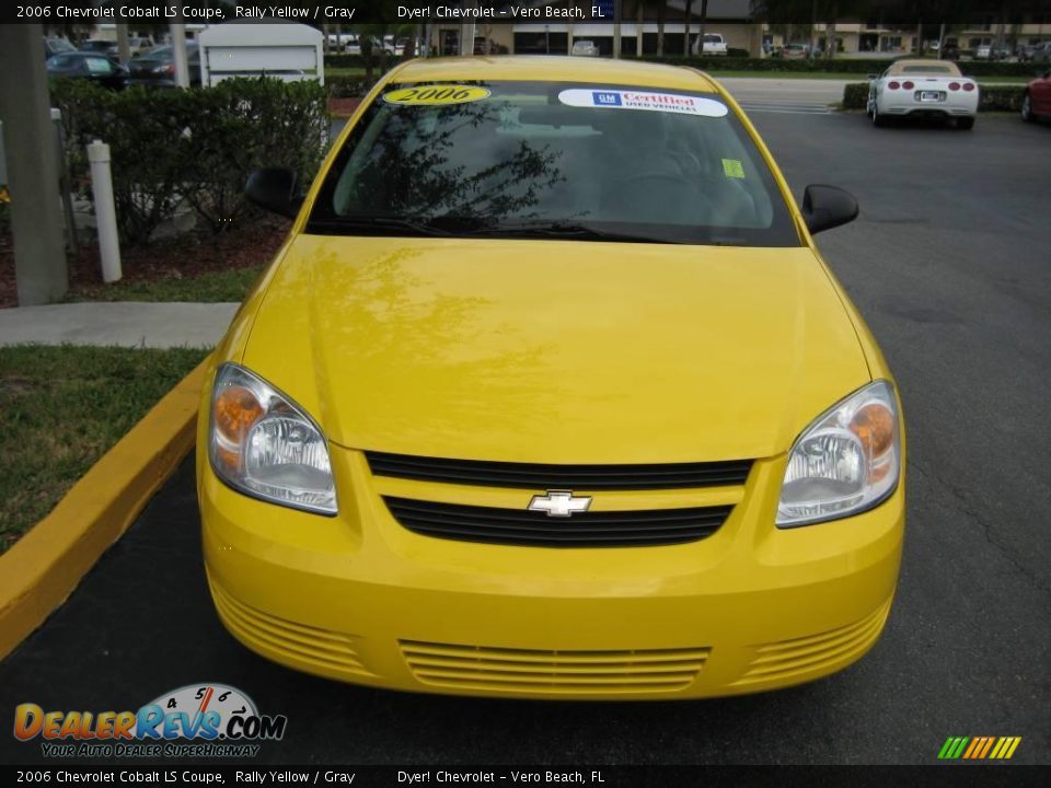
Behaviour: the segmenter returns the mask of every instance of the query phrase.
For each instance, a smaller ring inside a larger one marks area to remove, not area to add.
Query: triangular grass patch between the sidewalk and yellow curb
[[[0,347],[0,554],[208,352]]]

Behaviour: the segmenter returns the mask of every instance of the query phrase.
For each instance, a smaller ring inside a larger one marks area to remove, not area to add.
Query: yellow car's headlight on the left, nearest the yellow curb
[[[302,408],[246,369],[219,368],[208,454],[234,489],[322,514],[336,513],[328,445]]]

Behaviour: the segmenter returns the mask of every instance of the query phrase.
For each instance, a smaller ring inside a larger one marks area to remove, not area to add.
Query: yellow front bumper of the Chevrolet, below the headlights
[[[336,447],[337,517],[254,500],[215,476],[203,443],[204,553],[220,618],[264,657],[331,679],[588,699],[772,690],[862,657],[898,578],[903,486],[861,515],[779,531],[784,456],[757,462],[736,491],[598,494],[597,505],[626,507],[734,500],[701,542],[558,549],[407,531],[381,495],[480,490],[373,477],[361,453]],[[484,495],[496,505],[508,493]]]

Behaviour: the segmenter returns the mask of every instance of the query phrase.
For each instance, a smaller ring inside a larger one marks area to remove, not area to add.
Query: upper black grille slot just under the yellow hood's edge
[[[520,487],[548,490],[675,489],[742,485],[751,460],[709,463],[662,463],[655,465],[543,465],[441,460],[366,452],[376,476],[444,482],[484,487]]]

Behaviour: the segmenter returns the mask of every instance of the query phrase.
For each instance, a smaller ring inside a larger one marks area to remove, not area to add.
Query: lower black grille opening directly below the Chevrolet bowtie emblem
[[[535,547],[647,547],[696,542],[719,530],[731,506],[703,509],[581,512],[552,518],[527,509],[390,498],[404,528],[425,536]]]

